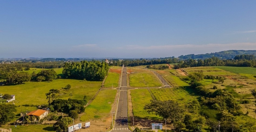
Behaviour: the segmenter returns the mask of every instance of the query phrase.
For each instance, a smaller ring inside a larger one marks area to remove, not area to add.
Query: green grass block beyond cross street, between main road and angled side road
[[[131,87],[159,87],[162,83],[150,71],[140,70],[139,73],[129,74],[130,86]]]

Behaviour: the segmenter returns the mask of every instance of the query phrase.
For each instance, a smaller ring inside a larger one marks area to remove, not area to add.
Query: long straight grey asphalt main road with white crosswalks
[[[122,82],[121,87],[119,88],[119,101],[117,106],[117,113],[115,118],[115,125],[111,132],[121,132],[127,131],[130,132],[128,129],[128,122],[125,119],[128,119],[127,113],[127,76],[126,76],[126,67],[122,70]]]

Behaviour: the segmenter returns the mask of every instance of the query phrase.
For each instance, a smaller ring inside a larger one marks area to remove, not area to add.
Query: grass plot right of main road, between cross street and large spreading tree
[[[155,114],[148,114],[147,111],[144,110],[144,106],[150,103],[150,100],[152,100],[148,89],[131,90],[131,98],[133,116],[137,118],[149,118],[154,120],[162,119],[160,116],[156,116]]]

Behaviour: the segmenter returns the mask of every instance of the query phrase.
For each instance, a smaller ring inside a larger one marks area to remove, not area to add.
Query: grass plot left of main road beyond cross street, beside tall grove
[[[118,87],[118,82],[121,77],[121,67],[119,67],[119,70],[117,70],[115,67],[112,67],[109,69],[107,78],[104,82],[104,87]]]

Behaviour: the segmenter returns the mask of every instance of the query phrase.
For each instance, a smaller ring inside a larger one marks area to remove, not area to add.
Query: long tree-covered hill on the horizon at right
[[[256,56],[256,50],[227,50],[215,53],[206,54],[188,54],[179,56],[180,59],[206,59],[211,57],[218,57],[220,59],[233,59],[236,55],[253,54]]]

